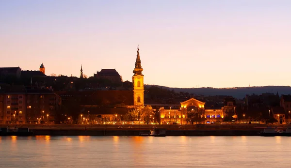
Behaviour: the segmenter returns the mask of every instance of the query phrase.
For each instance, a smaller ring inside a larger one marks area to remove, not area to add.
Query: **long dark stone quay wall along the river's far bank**
[[[260,136],[265,124],[229,125],[92,125],[92,124],[0,124],[0,128],[29,128],[32,136],[139,136],[165,129],[166,136]],[[289,125],[271,125],[286,129]],[[1,134],[3,136],[3,134]]]

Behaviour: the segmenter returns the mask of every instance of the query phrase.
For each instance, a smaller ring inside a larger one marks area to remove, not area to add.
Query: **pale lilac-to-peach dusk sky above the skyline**
[[[0,67],[146,84],[291,84],[291,0],[0,0]]]

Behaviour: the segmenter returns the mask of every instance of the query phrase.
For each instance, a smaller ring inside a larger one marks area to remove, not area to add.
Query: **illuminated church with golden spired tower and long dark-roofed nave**
[[[58,92],[62,100],[70,99],[67,95],[72,95],[73,99],[79,99],[81,106],[72,107],[72,110],[79,111],[80,115],[89,120],[100,119],[100,121],[110,122],[114,116],[119,121],[124,121],[125,115],[130,110],[141,111],[144,108],[144,75],[141,65],[139,48],[137,49],[135,67],[132,76],[132,90],[109,90],[109,91],[82,91],[82,92]],[[65,100],[67,101],[67,100]],[[71,104],[71,106],[73,106]],[[79,108],[79,109],[78,109]],[[102,119],[102,120],[101,120]],[[83,122],[83,120],[82,120]]]

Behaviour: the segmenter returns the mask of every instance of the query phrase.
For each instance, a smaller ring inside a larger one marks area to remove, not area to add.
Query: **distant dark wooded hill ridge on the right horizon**
[[[147,85],[151,86],[151,85]],[[261,86],[261,87],[242,87],[242,88],[169,88],[165,86],[158,86],[163,89],[174,90],[175,92],[188,92],[201,95],[229,95],[238,99],[242,99],[246,94],[262,94],[262,93],[274,93],[291,94],[290,86]]]

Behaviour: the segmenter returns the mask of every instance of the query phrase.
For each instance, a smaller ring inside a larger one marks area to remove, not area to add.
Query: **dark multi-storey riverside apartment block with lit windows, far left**
[[[0,123],[54,123],[60,97],[47,90],[31,88],[0,93]]]

